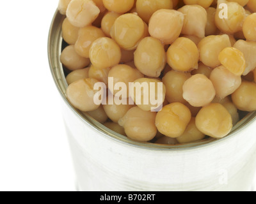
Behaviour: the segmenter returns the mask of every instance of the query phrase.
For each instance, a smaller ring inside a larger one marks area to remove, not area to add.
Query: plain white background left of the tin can
[[[0,191],[74,191],[75,177],[47,59],[58,0],[0,6]]]

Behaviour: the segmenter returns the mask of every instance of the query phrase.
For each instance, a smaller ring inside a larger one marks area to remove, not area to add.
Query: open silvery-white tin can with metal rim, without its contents
[[[60,91],[79,191],[252,191],[256,172],[256,112],[220,140],[187,145],[140,143],[110,131],[68,103],[60,62],[64,16],[49,33],[49,64]]]

